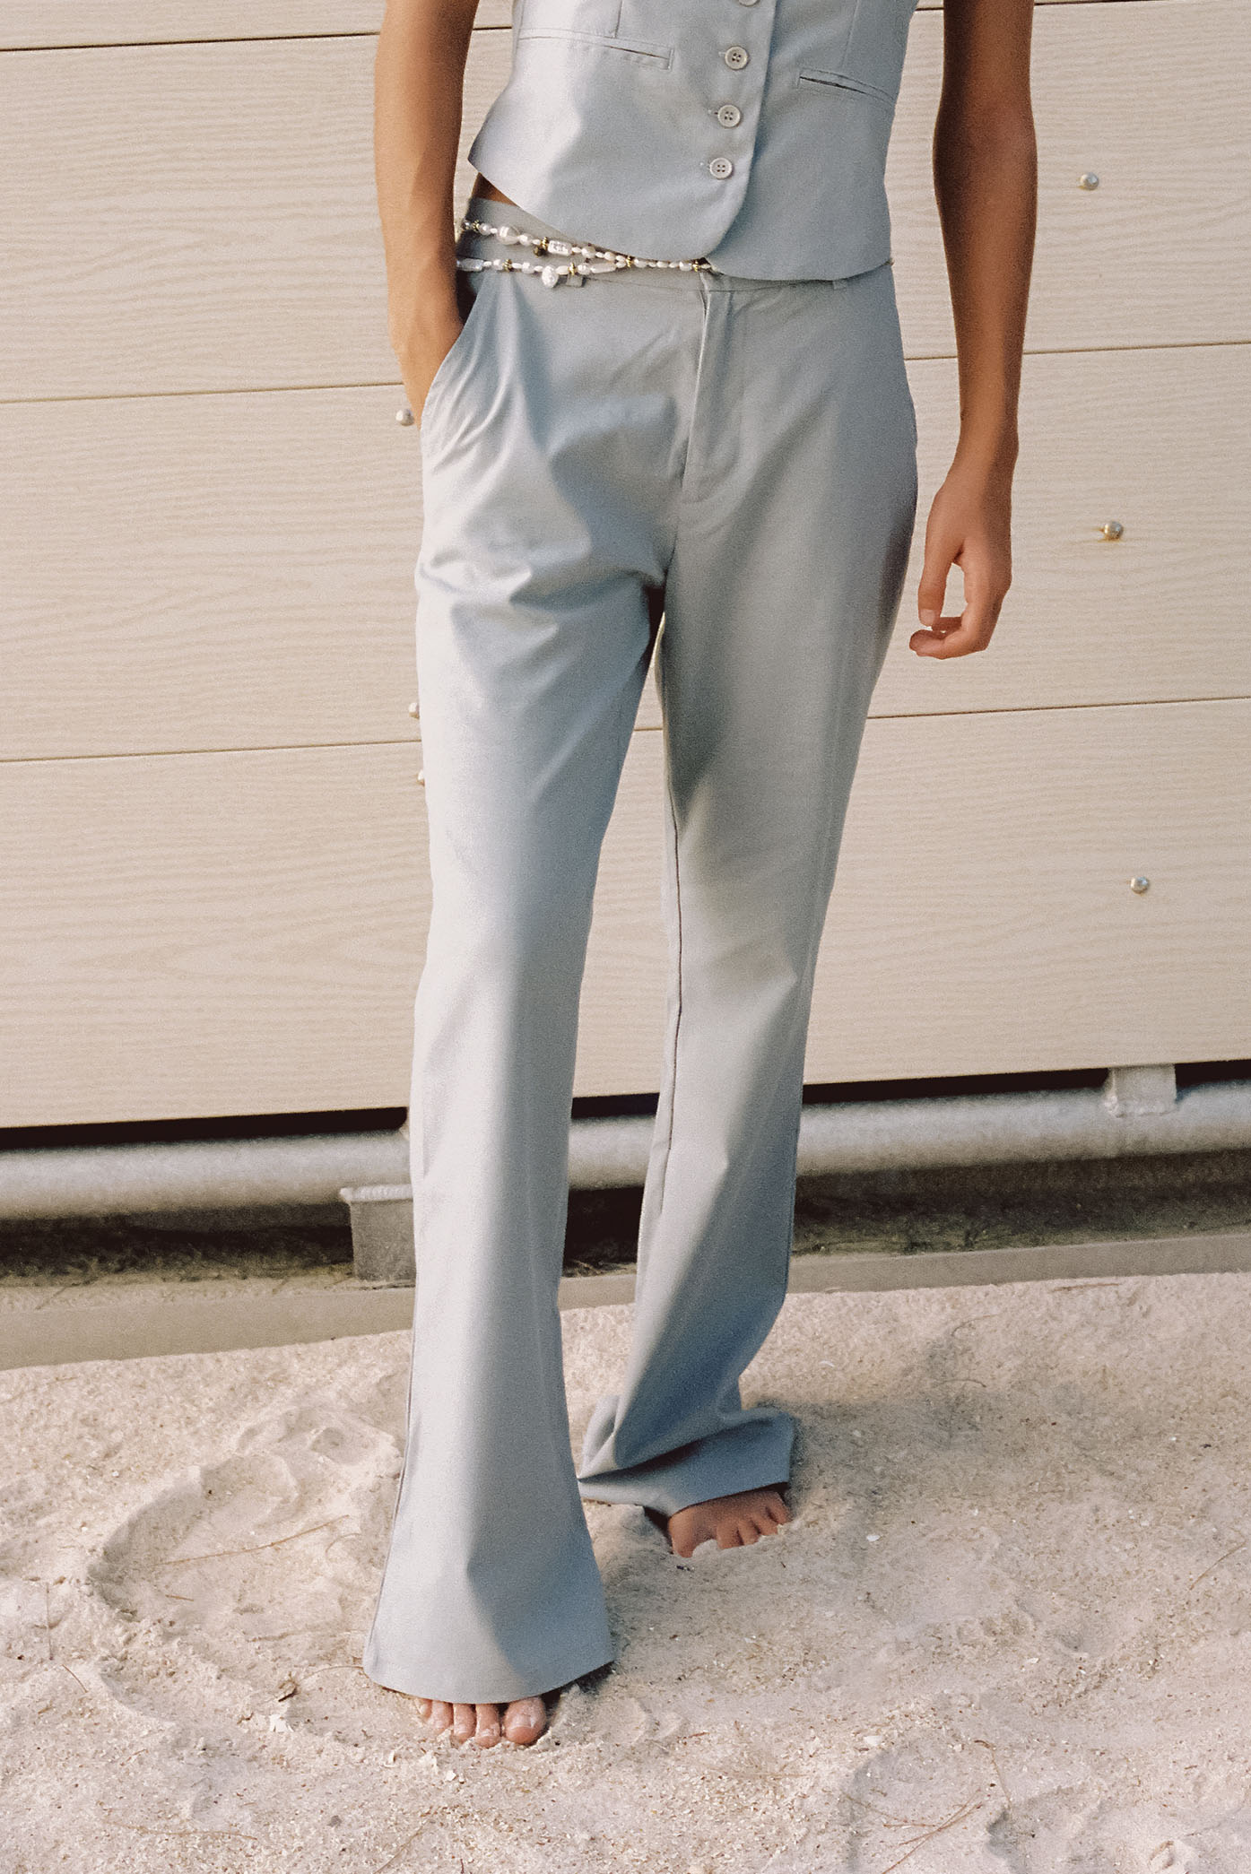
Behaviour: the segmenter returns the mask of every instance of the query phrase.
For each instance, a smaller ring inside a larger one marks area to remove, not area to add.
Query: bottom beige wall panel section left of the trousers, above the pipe
[[[0,768],[0,1124],[405,1104],[418,761]]]

